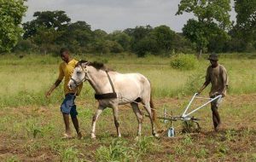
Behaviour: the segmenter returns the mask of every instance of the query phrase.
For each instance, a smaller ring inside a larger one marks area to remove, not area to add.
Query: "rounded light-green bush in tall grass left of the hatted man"
[[[180,70],[193,70],[197,65],[195,55],[176,55],[171,61],[171,66]]]

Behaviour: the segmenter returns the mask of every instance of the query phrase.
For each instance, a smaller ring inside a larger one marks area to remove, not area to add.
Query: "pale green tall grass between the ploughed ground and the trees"
[[[236,56],[236,57],[235,57]],[[230,94],[256,92],[255,57],[251,55],[221,55],[223,64],[230,77]],[[154,98],[191,95],[204,82],[209,62],[199,61],[194,70],[177,70],[170,65],[171,58],[148,55],[137,58],[135,55],[75,55],[77,60],[107,62],[117,72],[141,72],[149,78]],[[59,57],[51,55],[0,56],[0,106],[19,107],[25,105],[48,106],[60,102],[63,97],[61,86],[47,100],[44,94],[58,77]],[[205,90],[205,95],[207,90]],[[85,84],[79,100],[93,99],[94,92]]]

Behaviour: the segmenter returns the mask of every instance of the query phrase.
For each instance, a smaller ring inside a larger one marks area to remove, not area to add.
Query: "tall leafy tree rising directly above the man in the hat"
[[[183,32],[196,44],[200,55],[203,49],[207,49],[210,40],[218,36],[212,33],[214,30],[218,29],[218,33],[224,34],[222,38],[227,38],[226,30],[230,28],[231,23],[230,10],[230,0],[181,0],[177,14],[193,13],[197,18],[188,20]],[[220,30],[222,32],[219,32]]]

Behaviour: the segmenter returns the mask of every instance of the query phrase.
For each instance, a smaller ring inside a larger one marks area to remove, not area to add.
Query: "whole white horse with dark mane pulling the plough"
[[[106,107],[113,109],[114,124],[117,134],[120,137],[118,107],[127,103],[131,104],[133,112],[137,116],[137,136],[141,136],[143,114],[138,107],[138,102],[143,103],[143,107],[148,113],[152,126],[152,135],[158,136],[154,128],[156,115],[148,78],[140,73],[122,74],[113,72],[98,62],[79,61],[73,71],[73,76],[68,83],[68,87],[74,90],[86,80],[88,80],[91,87],[95,90],[96,99],[99,102],[98,109],[92,119],[91,138],[96,138],[96,120]]]

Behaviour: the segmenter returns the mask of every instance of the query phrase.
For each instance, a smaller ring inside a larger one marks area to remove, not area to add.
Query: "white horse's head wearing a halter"
[[[79,61],[76,67],[73,70],[73,75],[70,78],[67,86],[70,90],[74,90],[79,84],[82,84],[84,81],[88,80],[88,61]]]

